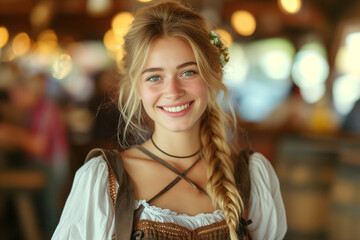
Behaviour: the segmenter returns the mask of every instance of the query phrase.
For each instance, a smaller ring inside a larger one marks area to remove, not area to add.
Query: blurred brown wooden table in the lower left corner
[[[41,170],[0,169],[0,194],[13,199],[27,240],[42,239],[32,196],[45,185],[46,175]]]

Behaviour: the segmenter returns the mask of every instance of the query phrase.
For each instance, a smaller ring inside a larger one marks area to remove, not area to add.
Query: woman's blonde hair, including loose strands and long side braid
[[[229,116],[218,103],[218,95],[227,89],[222,82],[219,49],[210,43],[210,26],[195,11],[167,1],[141,9],[125,36],[123,58],[125,73],[120,84],[119,109],[122,115],[120,144],[129,147],[129,134],[139,136],[146,131],[144,111],[137,88],[141,69],[155,38],[172,36],[186,40],[191,46],[202,79],[208,85],[208,106],[201,119],[200,140],[202,156],[207,160],[207,190],[224,213],[232,240],[238,239],[236,230],[244,212],[243,199],[236,187],[234,163],[226,143],[225,128]]]

